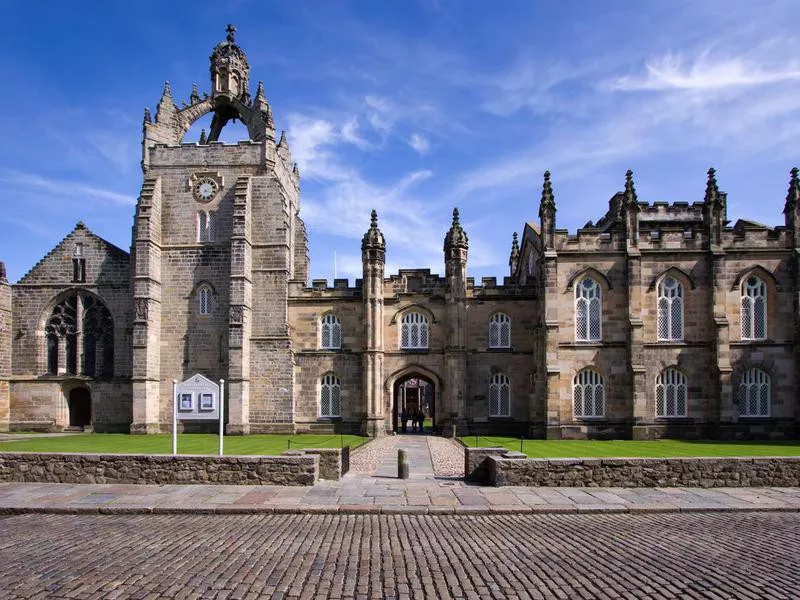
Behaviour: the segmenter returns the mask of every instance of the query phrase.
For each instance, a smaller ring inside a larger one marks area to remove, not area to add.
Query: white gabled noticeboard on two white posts
[[[219,455],[222,456],[225,418],[225,380],[219,384],[197,373],[183,383],[172,380],[172,455],[178,455],[178,421],[219,420]]]

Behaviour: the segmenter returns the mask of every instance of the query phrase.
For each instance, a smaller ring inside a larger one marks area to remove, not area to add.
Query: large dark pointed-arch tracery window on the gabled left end
[[[67,296],[53,308],[44,334],[47,373],[113,375],[114,324],[108,308],[98,298],[81,292]]]

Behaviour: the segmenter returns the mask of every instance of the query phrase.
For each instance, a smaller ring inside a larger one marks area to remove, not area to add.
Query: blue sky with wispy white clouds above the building
[[[640,200],[693,202],[714,166],[729,218],[778,225],[800,163],[791,1],[42,6],[4,10],[0,260],[11,281],[78,220],[130,247],[143,109],[164,80],[176,100],[193,82],[208,91],[229,22],[300,165],[314,278],[333,277],[334,251],[339,277],[360,276],[372,208],[387,272],[442,273],[454,206],[470,276],[502,277],[512,233],[538,222],[545,169],[571,231],[605,212],[628,168]]]

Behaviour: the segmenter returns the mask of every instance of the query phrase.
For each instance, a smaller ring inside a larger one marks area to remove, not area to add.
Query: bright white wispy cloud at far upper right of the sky
[[[651,58],[645,73],[611,80],[609,89],[620,91],[709,91],[753,87],[800,79],[795,65],[768,69],[743,57],[714,60],[708,52],[690,61],[680,54]]]

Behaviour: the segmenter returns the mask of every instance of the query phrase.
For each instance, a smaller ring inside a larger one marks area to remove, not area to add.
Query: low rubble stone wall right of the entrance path
[[[517,453],[514,453],[517,454]],[[496,486],[748,487],[800,485],[800,457],[532,459],[488,456]]]

